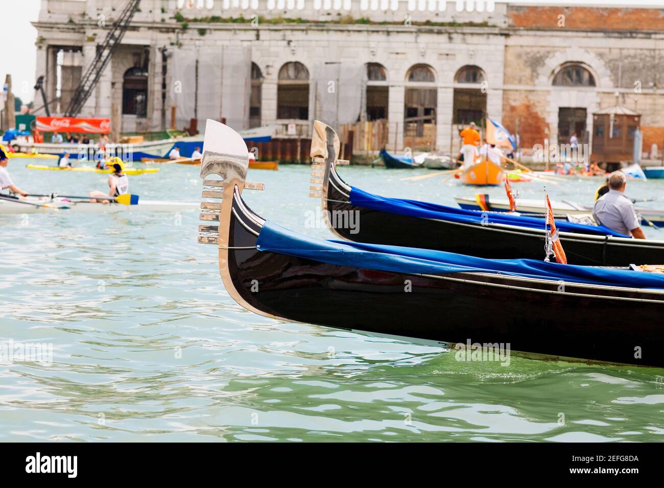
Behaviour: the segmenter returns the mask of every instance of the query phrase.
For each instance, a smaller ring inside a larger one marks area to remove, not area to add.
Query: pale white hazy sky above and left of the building
[[[0,63],[1,82],[5,82],[7,73],[11,73],[13,92],[23,102],[33,100],[35,96],[35,63],[37,29],[30,23],[39,16],[40,0],[4,0],[18,3],[19,7],[5,10],[5,22],[0,29],[0,46],[3,62]],[[84,1],[84,0],[78,0]],[[216,0],[220,1],[220,0]],[[497,0],[499,1],[499,0]],[[513,3],[545,5],[623,5],[632,3],[643,6],[663,7],[664,0],[517,0]],[[9,14],[9,19],[7,19]],[[41,103],[37,102],[39,106]]]

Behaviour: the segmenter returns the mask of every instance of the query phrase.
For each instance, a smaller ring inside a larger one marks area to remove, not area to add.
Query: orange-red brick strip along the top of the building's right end
[[[513,27],[560,27],[558,15],[564,15],[568,29],[616,31],[664,31],[664,9],[620,9],[599,7],[525,7],[507,9]]]

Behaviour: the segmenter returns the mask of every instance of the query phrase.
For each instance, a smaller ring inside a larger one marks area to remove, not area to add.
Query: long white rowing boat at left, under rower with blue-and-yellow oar
[[[104,212],[122,212],[126,210],[145,210],[149,212],[186,212],[199,208],[200,203],[173,202],[159,200],[141,200],[135,205],[123,205],[120,203],[89,203],[87,201],[70,201],[67,199],[27,199],[25,202],[35,203],[30,205],[11,202],[0,199],[0,214],[35,214],[43,212],[84,212],[84,213],[104,213]]]

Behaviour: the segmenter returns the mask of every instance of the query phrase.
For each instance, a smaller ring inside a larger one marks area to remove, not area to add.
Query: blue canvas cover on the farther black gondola
[[[409,215],[422,218],[436,218],[449,222],[464,224],[506,224],[544,230],[544,218],[510,215],[504,212],[478,212],[477,210],[464,210],[452,206],[435,203],[419,202],[416,200],[393,199],[380,197],[351,187],[351,204],[400,215]],[[618,234],[605,226],[575,224],[565,220],[556,220],[556,228],[560,232],[576,232],[578,234],[595,234],[599,236],[629,237]]]

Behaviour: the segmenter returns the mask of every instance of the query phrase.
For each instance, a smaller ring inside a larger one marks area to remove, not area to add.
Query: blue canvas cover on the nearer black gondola
[[[537,260],[488,260],[429,249],[315,239],[267,220],[256,248],[288,256],[402,274],[483,272],[522,278],[633,288],[664,289],[664,274],[574,266]]]

